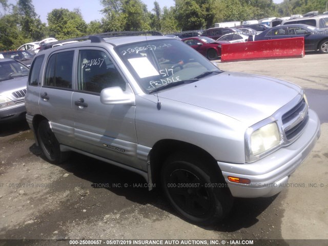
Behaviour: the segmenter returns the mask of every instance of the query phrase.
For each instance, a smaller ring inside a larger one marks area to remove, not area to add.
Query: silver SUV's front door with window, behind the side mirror
[[[135,106],[105,105],[101,90],[120,87],[131,90],[107,51],[79,49],[77,84],[72,95],[75,148],[135,166],[137,138]]]

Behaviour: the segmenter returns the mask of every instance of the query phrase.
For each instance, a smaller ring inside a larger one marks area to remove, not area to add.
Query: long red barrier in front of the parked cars
[[[221,62],[303,57],[304,37],[222,44]]]

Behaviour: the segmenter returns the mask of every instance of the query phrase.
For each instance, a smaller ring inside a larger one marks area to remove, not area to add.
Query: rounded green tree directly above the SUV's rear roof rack
[[[84,36],[87,24],[80,14],[79,9],[53,9],[48,13],[49,34],[57,39],[68,39]]]

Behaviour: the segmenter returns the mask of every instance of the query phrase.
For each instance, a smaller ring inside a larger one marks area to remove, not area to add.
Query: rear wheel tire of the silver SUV
[[[49,121],[42,120],[37,128],[37,139],[43,156],[51,163],[59,164],[67,159],[68,152],[61,152],[59,142],[52,132]]]

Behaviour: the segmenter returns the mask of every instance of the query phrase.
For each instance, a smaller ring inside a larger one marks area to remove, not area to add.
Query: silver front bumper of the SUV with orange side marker
[[[293,144],[253,163],[217,162],[234,197],[269,197],[287,186],[289,176],[305,160],[320,136],[318,115],[309,110],[309,122]],[[228,176],[248,178],[249,185],[229,181]]]

